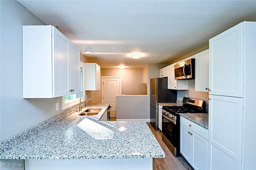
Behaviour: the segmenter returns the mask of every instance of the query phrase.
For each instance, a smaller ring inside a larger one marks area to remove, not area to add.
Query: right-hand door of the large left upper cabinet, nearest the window
[[[80,93],[80,51],[70,42],[70,90],[72,94]]]

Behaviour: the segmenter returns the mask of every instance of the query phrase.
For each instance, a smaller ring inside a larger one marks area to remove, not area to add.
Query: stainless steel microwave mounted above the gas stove
[[[195,59],[191,58],[174,65],[176,80],[195,79]]]

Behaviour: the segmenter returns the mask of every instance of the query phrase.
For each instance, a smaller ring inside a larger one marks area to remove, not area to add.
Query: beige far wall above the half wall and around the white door
[[[147,87],[143,84],[144,70],[142,68],[102,68],[101,74],[101,76],[120,76],[122,79],[122,94],[147,94]]]

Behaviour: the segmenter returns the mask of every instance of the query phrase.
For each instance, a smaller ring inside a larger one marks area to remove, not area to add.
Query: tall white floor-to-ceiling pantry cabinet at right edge
[[[208,170],[256,167],[256,22],[209,40]]]

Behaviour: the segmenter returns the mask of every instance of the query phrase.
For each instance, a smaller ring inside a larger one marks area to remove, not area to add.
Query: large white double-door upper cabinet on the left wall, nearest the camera
[[[80,51],[54,26],[23,26],[23,98],[80,92]]]

